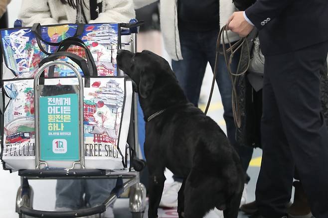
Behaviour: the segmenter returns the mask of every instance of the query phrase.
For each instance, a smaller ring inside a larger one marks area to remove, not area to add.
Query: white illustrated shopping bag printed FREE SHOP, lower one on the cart
[[[63,56],[72,59],[73,55],[67,52],[57,52],[43,59],[40,65]],[[76,59],[73,58],[72,60],[78,62]],[[127,167],[126,141],[131,115],[132,83],[127,81],[125,77],[94,76],[95,70],[92,69],[92,61],[91,59],[83,62],[83,64],[79,63],[80,70],[83,71],[84,75],[83,154],[85,167],[122,169]],[[80,60],[80,62],[82,61]],[[35,169],[33,79],[16,78],[2,80],[2,82],[2,95],[5,97],[2,103],[3,107],[1,107],[4,114],[1,159],[4,168]],[[49,77],[45,78],[44,85],[41,85],[41,97],[47,97],[47,101],[43,104],[46,106],[48,102],[53,104],[57,101],[60,103],[61,100],[56,99],[67,98],[63,95],[71,94],[74,86],[78,85],[78,81],[77,78]],[[53,95],[56,97],[51,97]],[[51,98],[53,99],[49,100]],[[45,120],[44,127],[48,126],[49,123],[52,126],[60,126],[64,121],[64,116],[61,116],[64,114],[48,115],[49,118]],[[53,129],[48,129],[51,134],[58,132],[60,134],[60,131]],[[49,148],[51,149],[51,146]],[[54,155],[51,151],[49,152],[50,156]],[[76,156],[62,160],[54,156],[53,160],[48,162],[48,166],[68,168],[71,162],[75,160]]]

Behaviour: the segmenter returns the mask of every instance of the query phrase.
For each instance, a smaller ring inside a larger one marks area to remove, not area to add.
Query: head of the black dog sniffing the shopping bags
[[[144,99],[148,98],[154,89],[160,89],[167,84],[177,84],[167,61],[151,51],[132,53],[119,50],[117,64],[138,85],[139,94]]]

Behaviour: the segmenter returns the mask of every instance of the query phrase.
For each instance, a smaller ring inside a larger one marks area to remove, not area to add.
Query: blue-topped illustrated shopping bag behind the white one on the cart
[[[98,69],[99,76],[117,76],[116,55],[121,42],[120,23],[56,24],[2,29],[1,47],[4,65],[2,78],[32,78],[39,62],[56,52],[63,40],[77,37],[88,47]],[[67,50],[85,57],[80,46]],[[69,58],[63,58],[70,61]],[[71,62],[73,63],[73,62]],[[73,76],[70,70],[55,69],[59,76]],[[82,73],[82,71],[81,71]]]

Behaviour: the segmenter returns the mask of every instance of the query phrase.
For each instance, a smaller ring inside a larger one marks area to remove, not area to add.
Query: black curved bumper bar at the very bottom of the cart
[[[74,211],[38,211],[27,208],[26,206],[21,206],[19,208],[21,214],[31,216],[31,217],[38,217],[38,218],[75,218],[75,217],[86,217],[92,216],[96,214],[102,214],[106,211],[106,206],[100,205],[93,208],[87,209],[80,209]]]

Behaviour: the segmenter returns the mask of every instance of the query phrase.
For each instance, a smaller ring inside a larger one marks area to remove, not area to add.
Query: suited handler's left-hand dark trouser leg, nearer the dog
[[[279,65],[278,65],[279,66]],[[287,212],[291,199],[294,161],[271,84],[277,63],[266,60],[263,84],[263,113],[261,122],[262,163],[256,185],[256,204],[266,218],[280,218]]]

